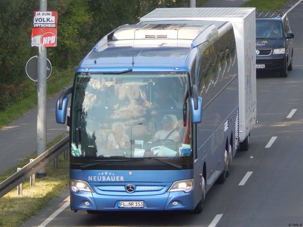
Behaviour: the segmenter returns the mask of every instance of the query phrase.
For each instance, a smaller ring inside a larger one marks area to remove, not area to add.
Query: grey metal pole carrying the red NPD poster
[[[40,11],[47,11],[47,0],[40,0]],[[37,156],[46,151],[46,47],[39,47],[38,57],[38,116]],[[37,177],[46,176],[46,166],[37,172]]]

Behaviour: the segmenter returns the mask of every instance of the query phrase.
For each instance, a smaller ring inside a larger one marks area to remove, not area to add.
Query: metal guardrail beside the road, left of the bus
[[[28,163],[18,172],[8,177],[0,183],[0,198],[5,196],[12,189],[23,183],[33,174],[37,173],[42,167],[46,166],[49,162],[54,160],[62,152],[69,147],[69,135],[63,138],[60,142],[46,150],[43,154],[39,155],[32,162]]]

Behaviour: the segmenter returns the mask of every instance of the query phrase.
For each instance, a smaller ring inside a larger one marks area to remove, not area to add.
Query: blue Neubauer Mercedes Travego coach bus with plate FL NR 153
[[[238,60],[228,21],[116,28],[58,99],[70,117],[72,210],[202,211],[238,147]]]

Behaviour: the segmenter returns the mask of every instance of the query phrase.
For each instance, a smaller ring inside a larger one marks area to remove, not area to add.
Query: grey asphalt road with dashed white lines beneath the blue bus
[[[238,7],[244,1],[210,0],[208,4],[211,2],[214,3],[213,7],[229,7],[229,3]],[[217,5],[219,2],[222,5]],[[283,9],[289,9],[296,2],[298,0],[291,0]],[[64,192],[61,198],[52,201],[50,206],[26,222],[25,226],[303,225],[301,15],[303,2],[289,12],[291,29],[295,33],[293,70],[288,72],[286,78],[279,77],[278,73],[257,75],[259,123],[252,130],[249,150],[236,153],[231,165],[231,174],[224,184],[216,184],[209,190],[201,214],[111,212],[89,215],[85,211],[74,213],[68,206],[68,192]]]

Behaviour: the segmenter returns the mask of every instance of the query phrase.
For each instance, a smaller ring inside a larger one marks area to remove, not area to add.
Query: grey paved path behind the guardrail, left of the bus
[[[47,142],[66,131],[66,125],[58,124],[55,118],[55,107],[59,96],[60,94],[57,94],[47,100]],[[37,150],[37,109],[0,129],[0,144],[1,174]]]

